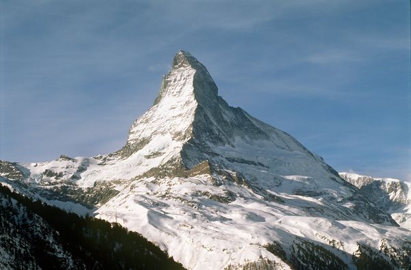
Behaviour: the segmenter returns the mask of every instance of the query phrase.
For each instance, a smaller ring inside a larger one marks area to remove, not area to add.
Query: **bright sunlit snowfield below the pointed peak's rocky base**
[[[210,187],[208,177],[166,178],[160,183],[153,178],[140,180],[136,188],[124,189],[99,208],[97,217],[114,221],[116,209],[123,226],[158,243],[188,269],[221,269],[232,262],[258,260],[260,254],[279,262],[262,245],[273,241],[290,245],[296,236],[327,245],[334,240],[349,253],[357,249],[358,242],[378,249],[379,240],[384,237],[410,239],[411,236],[410,231],[393,226],[309,217],[298,202],[293,204],[289,200],[286,205],[266,202],[251,191],[229,183]],[[225,189],[242,193],[242,198],[223,204],[195,195],[195,191],[205,190],[222,194]]]

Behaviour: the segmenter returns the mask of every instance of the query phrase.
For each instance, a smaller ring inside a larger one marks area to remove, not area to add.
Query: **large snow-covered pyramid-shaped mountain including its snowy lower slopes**
[[[140,232],[188,269],[407,269],[411,233],[179,51],[123,148],[0,163],[1,182]],[[379,268],[378,268],[379,267]]]

